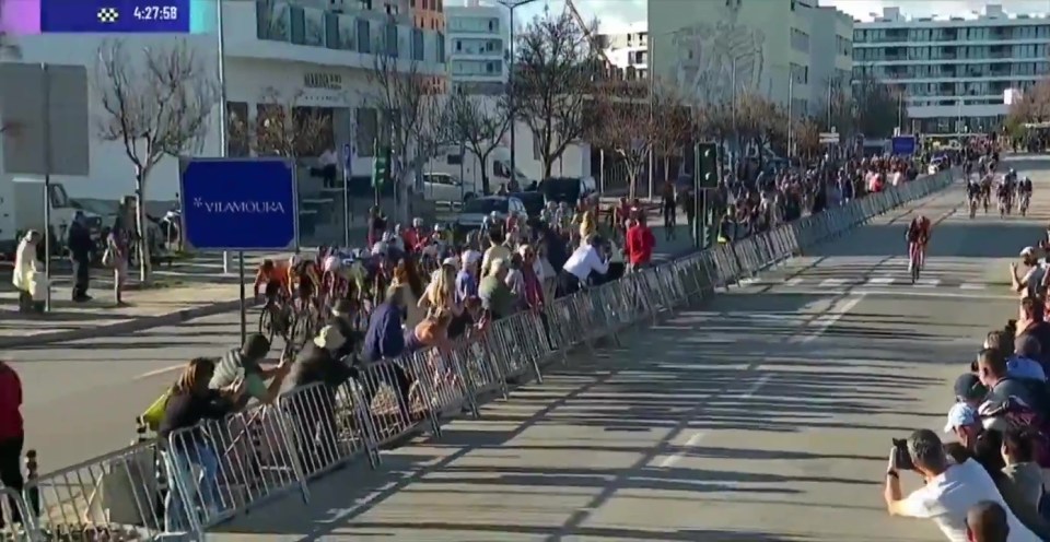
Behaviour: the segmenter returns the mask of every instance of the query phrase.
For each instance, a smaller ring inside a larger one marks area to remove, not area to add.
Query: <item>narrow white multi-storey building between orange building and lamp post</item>
[[[445,7],[448,75],[456,92],[501,94],[508,78],[511,27],[506,8],[470,0]]]

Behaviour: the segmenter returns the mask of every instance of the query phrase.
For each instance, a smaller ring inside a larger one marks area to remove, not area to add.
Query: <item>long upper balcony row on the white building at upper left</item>
[[[406,70],[415,61],[421,74],[445,74],[444,35],[413,27],[408,15],[245,1],[224,2],[222,16],[229,57],[370,70],[387,50]]]

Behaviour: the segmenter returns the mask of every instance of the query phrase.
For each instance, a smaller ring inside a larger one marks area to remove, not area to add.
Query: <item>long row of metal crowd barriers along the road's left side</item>
[[[482,417],[482,404],[506,398],[513,382],[541,382],[542,369],[568,364],[572,349],[615,341],[950,181],[945,173],[889,188],[494,321],[448,351],[349,367],[338,386],[301,387],[273,404],[33,476],[21,496],[0,490],[14,508],[34,510],[15,540],[203,541],[209,528],[270,499],[308,503],[312,480],[358,461],[378,469],[382,449],[420,434],[440,438],[459,416]]]

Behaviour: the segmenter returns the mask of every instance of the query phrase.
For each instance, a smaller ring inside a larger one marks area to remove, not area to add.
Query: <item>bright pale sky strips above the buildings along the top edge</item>
[[[658,2],[660,0],[652,1]],[[644,21],[648,0],[574,0],[574,3],[584,19],[598,19],[602,32],[615,33],[629,23]],[[981,8],[989,3],[1002,4],[1003,9],[1011,13],[1050,12],[1050,0],[926,0],[922,2],[915,0],[820,0],[820,5],[835,5],[861,20],[870,20],[871,13],[882,13],[884,7],[898,5],[907,15],[930,16],[933,14],[949,15],[981,11]],[[515,16],[521,16],[525,21],[542,13],[546,7],[549,7],[551,11],[560,12],[564,8],[564,1],[537,0],[520,8]]]

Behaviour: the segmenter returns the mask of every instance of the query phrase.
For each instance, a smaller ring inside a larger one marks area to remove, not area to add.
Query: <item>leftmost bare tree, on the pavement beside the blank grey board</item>
[[[95,71],[104,111],[97,119],[98,134],[121,143],[135,168],[139,279],[148,284],[147,180],[165,156],[201,149],[218,86],[213,71],[182,39],[168,47],[145,47],[133,56],[122,40],[106,42],[98,49]]]

